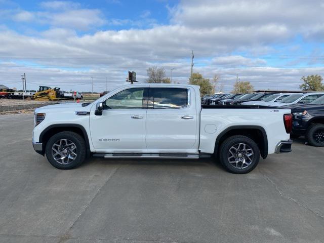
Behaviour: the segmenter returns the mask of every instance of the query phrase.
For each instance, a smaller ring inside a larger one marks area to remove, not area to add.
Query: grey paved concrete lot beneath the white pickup
[[[61,171],[33,151],[32,126],[32,114],[0,116],[0,242],[324,240],[324,149],[303,140],[247,175],[209,159]]]

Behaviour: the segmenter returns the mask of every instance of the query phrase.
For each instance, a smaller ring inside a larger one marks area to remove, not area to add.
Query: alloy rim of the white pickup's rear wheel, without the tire
[[[229,164],[236,169],[249,167],[253,161],[253,157],[253,149],[245,143],[234,144],[227,152]]]

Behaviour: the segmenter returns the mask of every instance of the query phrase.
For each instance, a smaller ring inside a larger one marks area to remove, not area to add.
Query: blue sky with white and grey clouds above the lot
[[[319,0],[0,0],[0,84],[27,89],[108,90],[128,70],[145,82],[164,67],[186,84],[194,72],[236,74],[255,89],[297,90],[300,77],[324,75],[324,2]]]

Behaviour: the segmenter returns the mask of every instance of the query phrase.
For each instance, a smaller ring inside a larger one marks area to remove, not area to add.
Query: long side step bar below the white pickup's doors
[[[184,154],[184,153],[95,153],[95,157],[104,158],[182,158],[198,159],[210,157],[208,154]]]

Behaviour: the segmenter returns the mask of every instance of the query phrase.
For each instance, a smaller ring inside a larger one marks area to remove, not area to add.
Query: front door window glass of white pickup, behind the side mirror
[[[144,88],[120,91],[104,102],[104,109],[142,109]]]

